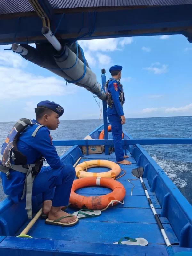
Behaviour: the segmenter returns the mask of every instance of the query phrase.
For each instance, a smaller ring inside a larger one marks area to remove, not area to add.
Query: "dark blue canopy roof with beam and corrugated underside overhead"
[[[1,0],[0,44],[45,42],[38,10],[52,31],[60,23],[62,40],[183,34],[192,42],[192,0]]]

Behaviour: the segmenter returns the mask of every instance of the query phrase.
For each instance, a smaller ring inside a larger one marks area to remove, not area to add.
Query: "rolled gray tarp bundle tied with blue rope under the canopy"
[[[36,48],[28,44],[20,45],[28,50],[27,55],[21,55],[26,60],[50,70],[73,84],[86,88],[101,100],[106,99],[106,94],[97,82],[97,77],[90,69],[87,60],[84,59],[78,42],[63,45],[60,52],[56,52],[49,43],[36,44]],[[81,79],[84,74],[84,62],[86,63],[86,72]],[[75,82],[78,79],[80,80]]]

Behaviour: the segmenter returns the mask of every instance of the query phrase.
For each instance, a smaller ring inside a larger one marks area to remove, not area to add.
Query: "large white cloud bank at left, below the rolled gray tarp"
[[[73,84],[66,88],[64,79],[58,79],[54,76],[37,76],[27,72],[24,69],[27,64],[27,60],[24,60],[17,53],[0,51],[1,100],[16,100],[31,96],[65,95],[76,92]]]

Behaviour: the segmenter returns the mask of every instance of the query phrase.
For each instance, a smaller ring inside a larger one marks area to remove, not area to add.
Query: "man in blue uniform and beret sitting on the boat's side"
[[[69,203],[75,169],[60,160],[49,131],[58,128],[63,112],[59,104],[45,100],[35,108],[36,120],[20,119],[2,146],[0,171],[4,193],[14,202],[26,199],[29,218],[31,196],[42,193],[46,223],[70,226],[77,216],[62,209]],[[48,167],[42,167],[44,158]]]

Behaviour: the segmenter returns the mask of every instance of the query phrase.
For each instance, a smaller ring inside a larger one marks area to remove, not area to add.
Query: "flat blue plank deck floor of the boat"
[[[128,154],[130,156],[130,154]],[[115,160],[115,154],[110,156],[105,154],[91,154],[89,156],[84,155],[80,162],[93,160],[93,159],[106,159],[110,161]],[[143,237],[147,239],[148,245],[162,244],[164,245],[164,239],[158,228],[156,219],[151,211],[148,200],[145,196],[140,180],[130,180],[134,184],[134,188],[131,196],[131,189],[133,185],[128,179],[136,179],[131,175],[131,171],[136,167],[136,161],[134,158],[129,158],[132,162],[131,165],[120,165],[122,169],[126,171],[126,174],[119,178],[125,189],[126,196],[124,198],[124,205],[117,204],[114,207],[108,208],[103,211],[99,217],[80,219],[79,223],[73,227],[62,228],[60,226],[52,226],[45,224],[45,220],[39,218],[34,226],[28,232],[28,235],[33,238],[47,238],[47,239],[59,239],[67,241],[79,241],[79,242],[93,242],[93,243],[106,243],[111,244],[117,242],[121,237],[129,236],[132,238]],[[89,172],[96,172],[95,168],[90,168]],[[97,168],[97,172],[106,172],[106,168]],[[123,172],[122,172],[123,174]],[[150,186],[148,180],[143,178],[151,200],[156,208],[158,214],[161,213],[161,206],[156,198],[155,193],[150,192]],[[103,187],[87,187],[81,188],[76,191],[78,194],[91,196],[91,195],[103,195],[111,192],[108,188]],[[76,209],[68,208],[67,212],[73,213]],[[179,241],[175,236],[169,221],[165,217],[160,217],[164,229],[170,239],[172,245],[178,245]],[[28,220],[29,222],[30,220]],[[18,231],[18,234],[26,227],[28,222],[22,226]]]

